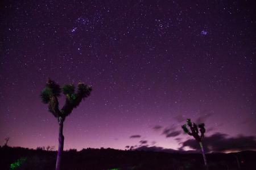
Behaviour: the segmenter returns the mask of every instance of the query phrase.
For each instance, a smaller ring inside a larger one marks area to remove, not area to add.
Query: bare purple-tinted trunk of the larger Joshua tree
[[[55,170],[60,170],[60,163],[61,163],[63,147],[64,147],[63,118],[59,117],[59,148],[58,148]]]

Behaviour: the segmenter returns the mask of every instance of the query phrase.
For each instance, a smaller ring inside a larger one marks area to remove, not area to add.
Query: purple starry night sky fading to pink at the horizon
[[[254,140],[254,7],[217,0],[1,1],[1,145],[9,136],[10,146],[57,146],[57,120],[39,97],[48,77],[93,88],[64,122],[64,150],[188,150],[192,138],[180,127],[186,118],[205,123],[206,139]]]

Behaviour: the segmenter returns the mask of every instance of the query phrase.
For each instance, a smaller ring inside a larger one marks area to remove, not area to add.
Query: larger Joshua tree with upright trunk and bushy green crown
[[[59,109],[59,101],[57,98],[60,97],[61,91],[63,91],[66,99],[62,109]],[[71,114],[72,110],[80,104],[82,99],[90,96],[91,91],[92,88],[82,82],[79,82],[77,91],[75,92],[75,86],[73,84],[64,85],[61,89],[58,84],[48,79],[46,87],[40,94],[42,102],[48,104],[48,110],[57,118],[59,123],[59,147],[55,167],[56,170],[60,170],[61,155],[64,147],[63,122],[65,118]]]

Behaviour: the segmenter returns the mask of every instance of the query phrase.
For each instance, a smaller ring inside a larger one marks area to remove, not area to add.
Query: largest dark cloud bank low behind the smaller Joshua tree
[[[181,143],[179,148],[183,150],[188,146],[197,151],[200,150],[199,143],[195,139],[188,139]],[[228,138],[228,135],[216,133],[212,136],[205,137],[203,139],[203,146],[205,152],[232,152],[232,151],[245,151],[256,150],[256,137],[255,136],[243,136],[238,135],[236,137]]]

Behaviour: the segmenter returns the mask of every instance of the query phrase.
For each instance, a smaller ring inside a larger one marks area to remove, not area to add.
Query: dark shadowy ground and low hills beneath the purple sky
[[[31,150],[21,147],[0,148],[0,169],[55,169],[56,151]],[[209,170],[256,169],[256,151],[230,154],[207,154]],[[170,154],[151,151],[121,151],[87,148],[65,151],[63,170],[101,169],[205,169],[201,154]],[[12,167],[11,167],[12,164]]]

